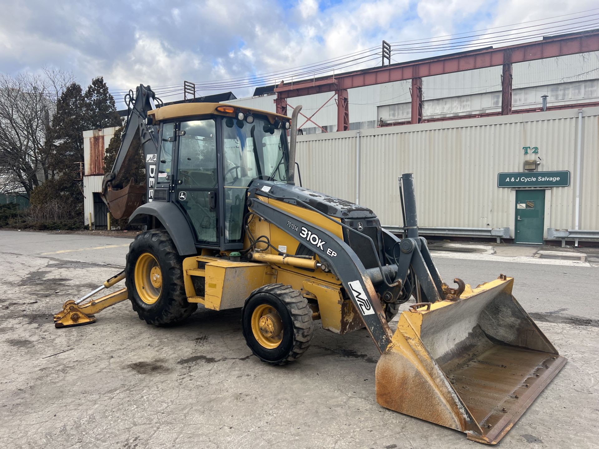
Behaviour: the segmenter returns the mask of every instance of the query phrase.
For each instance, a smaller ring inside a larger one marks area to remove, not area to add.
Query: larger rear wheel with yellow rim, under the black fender
[[[142,232],[129,245],[125,286],[140,320],[167,326],[189,317],[198,308],[187,302],[183,259],[163,229]]]

